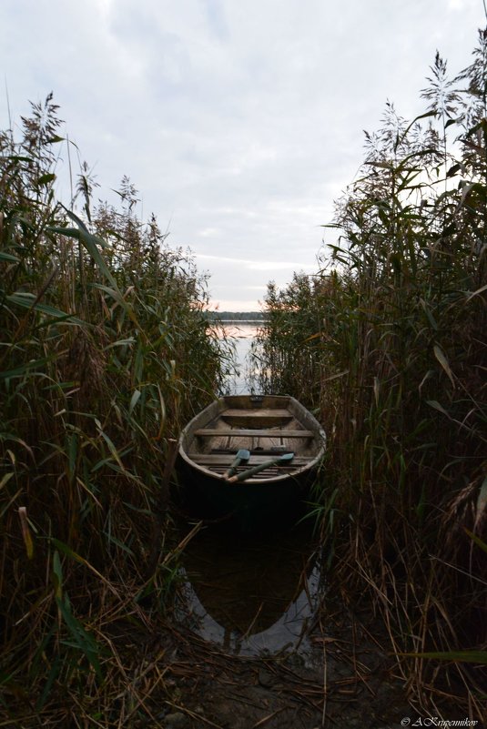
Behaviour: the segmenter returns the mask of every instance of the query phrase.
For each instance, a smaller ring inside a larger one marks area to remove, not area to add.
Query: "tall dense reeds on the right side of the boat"
[[[480,718],[482,670],[452,657],[485,659],[487,638],[485,32],[473,56],[453,81],[436,56],[418,118],[386,106],[323,268],[269,286],[255,356],[262,390],[330,434],[315,511],[338,579],[372,593],[418,704],[451,694]]]

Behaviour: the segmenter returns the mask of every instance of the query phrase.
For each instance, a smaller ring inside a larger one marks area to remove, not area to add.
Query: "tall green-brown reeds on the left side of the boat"
[[[127,178],[118,209],[93,206],[86,165],[56,200],[57,112],[48,96],[0,134],[0,715],[112,726],[148,715],[116,636],[167,608],[165,464],[227,349],[205,278]]]

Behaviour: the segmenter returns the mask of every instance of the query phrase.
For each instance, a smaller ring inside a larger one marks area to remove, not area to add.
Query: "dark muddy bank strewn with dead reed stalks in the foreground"
[[[311,626],[312,651],[243,657],[174,626],[161,633],[167,729],[314,729],[400,726],[414,713],[380,624],[336,602]],[[150,725],[150,724],[148,724]],[[157,726],[157,724],[152,724]]]

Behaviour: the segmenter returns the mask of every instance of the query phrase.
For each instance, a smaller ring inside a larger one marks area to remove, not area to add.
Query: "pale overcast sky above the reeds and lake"
[[[455,76],[485,25],[482,0],[2,0],[0,128],[54,92],[96,196],[130,177],[213,305],[256,310],[318,270],[386,101],[421,114],[436,50]]]

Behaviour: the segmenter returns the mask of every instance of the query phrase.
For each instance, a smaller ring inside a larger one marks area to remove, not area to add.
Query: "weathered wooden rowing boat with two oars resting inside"
[[[287,395],[231,395],[182,431],[178,471],[216,518],[244,530],[296,513],[325,451],[320,423]]]

